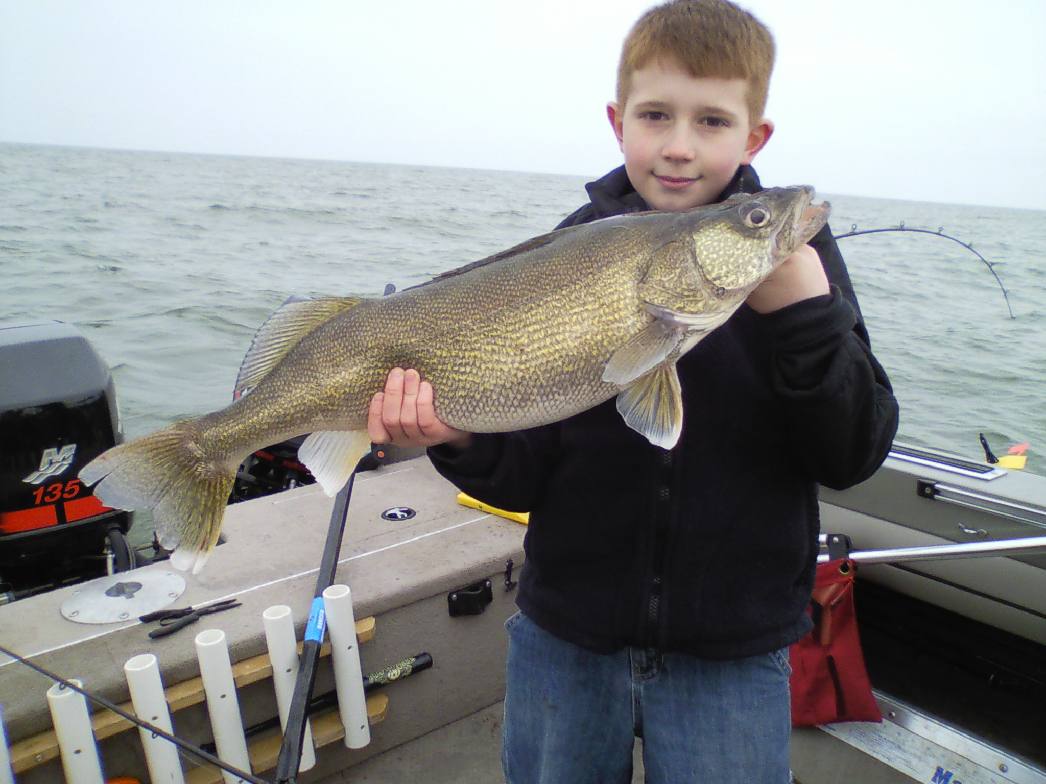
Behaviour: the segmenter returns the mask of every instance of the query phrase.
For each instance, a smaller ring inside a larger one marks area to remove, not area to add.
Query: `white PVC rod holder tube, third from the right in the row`
[[[221,629],[201,631],[196,637],[196,646],[218,758],[242,770],[250,770],[251,760],[247,754],[244,721],[240,717],[240,699],[236,697],[236,683],[232,677],[225,632]],[[223,770],[222,777],[225,784],[245,784],[243,779],[228,770]]]

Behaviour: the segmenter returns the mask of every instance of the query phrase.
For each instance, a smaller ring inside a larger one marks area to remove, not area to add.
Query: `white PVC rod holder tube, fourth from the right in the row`
[[[163,693],[160,666],[152,653],[129,659],[123,663],[123,676],[131,689],[131,704],[138,718],[174,735],[170,710]],[[141,747],[145,752],[145,766],[153,784],[185,784],[185,774],[178,758],[178,746],[143,727],[138,728]]]

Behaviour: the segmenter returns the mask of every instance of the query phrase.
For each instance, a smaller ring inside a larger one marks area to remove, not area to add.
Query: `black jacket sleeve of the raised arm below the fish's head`
[[[854,286],[827,226],[811,245],[832,293],[764,317],[771,336],[771,377],[804,472],[844,489],[870,477],[886,459],[897,430],[897,401],[871,353]]]

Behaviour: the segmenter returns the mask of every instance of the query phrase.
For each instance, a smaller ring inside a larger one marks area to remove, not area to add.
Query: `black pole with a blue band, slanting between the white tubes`
[[[348,516],[348,502],[353,497],[355,482],[356,471],[354,470],[348,482],[335,497],[334,509],[331,511],[331,527],[327,529],[320,572],[316,578],[313,606],[309,614],[309,623],[305,626],[298,678],[294,684],[294,696],[291,698],[291,708],[287,712],[287,724],[283,727],[283,744],[280,746],[279,759],[276,762],[275,781],[277,784],[293,784],[298,775],[298,766],[301,764],[301,746],[305,739],[305,718],[309,714],[313,686],[316,683],[320,646],[323,644],[323,633],[326,630],[323,591],[332,585],[335,571],[338,569],[338,553],[341,550],[341,538],[345,532],[345,518]]]

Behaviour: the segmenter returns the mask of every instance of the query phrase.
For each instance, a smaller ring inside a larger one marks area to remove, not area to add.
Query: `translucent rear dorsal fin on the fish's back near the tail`
[[[362,297],[288,299],[254,335],[240,366],[233,398],[256,387],[308,332],[362,301]]]

